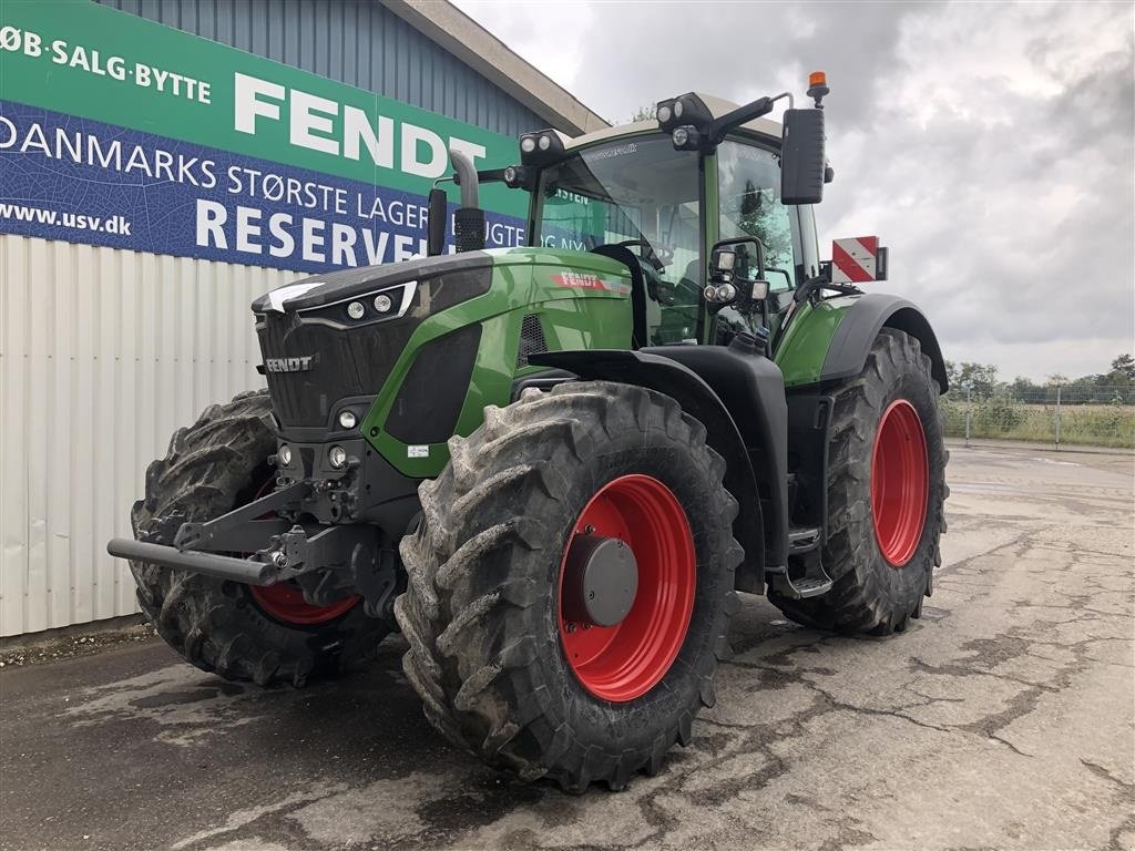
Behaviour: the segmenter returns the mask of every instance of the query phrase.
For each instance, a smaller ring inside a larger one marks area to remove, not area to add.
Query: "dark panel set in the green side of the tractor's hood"
[[[392,437],[440,444],[453,436],[480,342],[480,325],[470,325],[421,347],[386,419]]]

